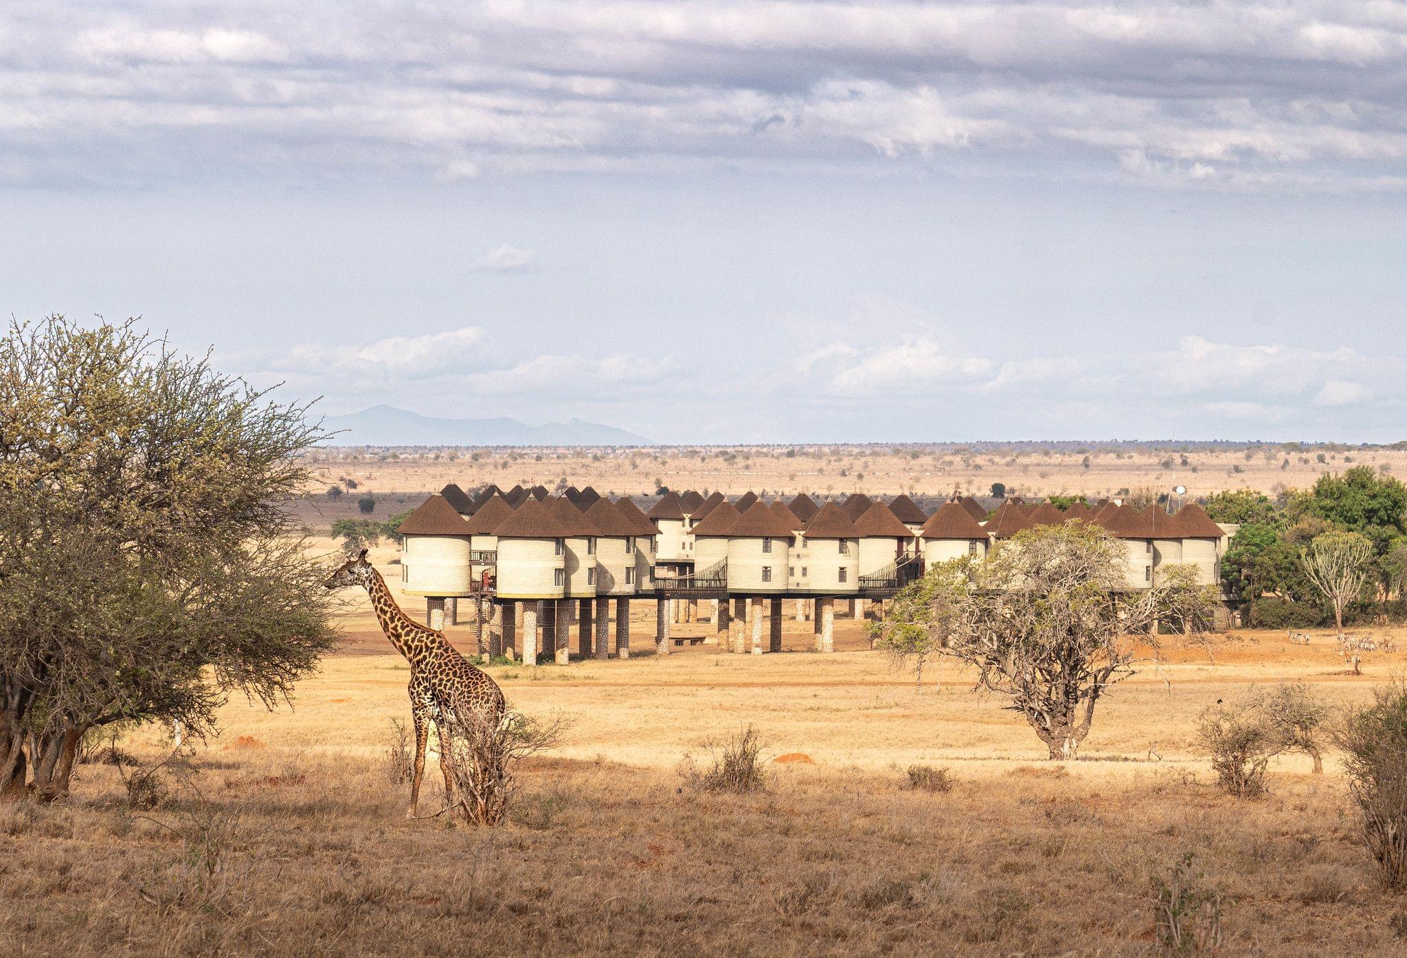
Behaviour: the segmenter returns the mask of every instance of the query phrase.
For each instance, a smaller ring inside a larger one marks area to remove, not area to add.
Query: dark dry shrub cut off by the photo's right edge
[[[1372,705],[1351,712],[1335,740],[1383,885],[1407,889],[1407,681],[1376,689]]]

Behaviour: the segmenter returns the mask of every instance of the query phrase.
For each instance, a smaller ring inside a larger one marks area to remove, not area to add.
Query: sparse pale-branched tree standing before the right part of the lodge
[[[1051,758],[1078,757],[1095,705],[1134,674],[1137,641],[1157,641],[1147,633],[1159,618],[1178,616],[1190,629],[1210,620],[1202,587],[1130,589],[1121,549],[1088,523],[1036,526],[962,574],[940,566],[930,573],[940,588],[909,587],[910,595],[931,589],[917,622],[943,654],[975,667],[979,686],[1009,699]]]

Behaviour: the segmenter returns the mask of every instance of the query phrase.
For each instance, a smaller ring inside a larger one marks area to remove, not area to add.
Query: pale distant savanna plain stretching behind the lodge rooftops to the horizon
[[[304,508],[315,529],[333,519],[359,516],[356,501],[377,498],[374,518],[419,505],[446,483],[469,490],[487,483],[594,485],[609,495],[675,490],[767,494],[947,497],[958,488],[988,495],[992,483],[1029,498],[1047,495],[1117,495],[1120,491],[1168,492],[1185,485],[1188,497],[1252,488],[1307,488],[1327,471],[1372,466],[1407,475],[1407,449],[1296,443],[1255,446],[1206,445],[972,445],[972,446],[657,446],[636,449],[339,449],[312,454],[321,481],[350,478],[356,488],[336,501],[318,497]],[[322,485],[311,491],[321,491]]]

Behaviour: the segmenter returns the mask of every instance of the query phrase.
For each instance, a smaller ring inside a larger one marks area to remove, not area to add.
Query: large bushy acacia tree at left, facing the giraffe
[[[13,322],[0,339],[0,796],[68,791],[121,720],[203,734],[331,647],[329,594],[288,502],[301,407],[134,322]]]

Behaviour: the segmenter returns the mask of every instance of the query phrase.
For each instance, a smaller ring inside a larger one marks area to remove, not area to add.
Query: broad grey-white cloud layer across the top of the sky
[[[1407,186],[1387,3],[96,0],[10,4],[0,46],[18,183],[723,163]]]

